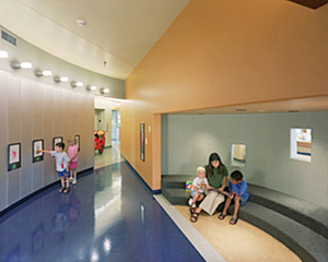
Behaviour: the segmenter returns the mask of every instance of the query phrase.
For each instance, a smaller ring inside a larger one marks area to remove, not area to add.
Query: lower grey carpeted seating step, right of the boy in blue
[[[230,209],[229,212],[232,213],[233,210]],[[328,261],[328,240],[308,227],[251,202],[239,209],[238,216],[280,240],[302,261]]]

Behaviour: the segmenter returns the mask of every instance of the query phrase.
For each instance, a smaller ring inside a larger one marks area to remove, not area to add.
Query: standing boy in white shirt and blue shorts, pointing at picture
[[[51,156],[55,156],[57,174],[61,180],[61,189],[59,189],[59,192],[68,193],[70,191],[70,179],[69,179],[70,158],[68,157],[63,148],[65,148],[65,143],[59,142],[55,145],[55,151],[38,150],[36,151],[36,153],[40,153],[40,152],[49,153],[51,154]]]

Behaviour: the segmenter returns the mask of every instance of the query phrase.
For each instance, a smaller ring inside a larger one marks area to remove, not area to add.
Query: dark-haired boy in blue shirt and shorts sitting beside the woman
[[[229,192],[234,194],[234,201],[235,201],[234,214],[230,221],[230,224],[236,225],[238,221],[237,214],[238,214],[239,206],[245,205],[249,196],[249,193],[246,192],[247,183],[245,182],[245,180],[243,180],[243,174],[238,170],[233,171],[231,174],[231,178],[227,187],[229,187]],[[232,199],[226,198],[224,210],[219,215],[219,219],[223,221],[224,217],[226,216],[226,211],[231,204],[231,201]]]

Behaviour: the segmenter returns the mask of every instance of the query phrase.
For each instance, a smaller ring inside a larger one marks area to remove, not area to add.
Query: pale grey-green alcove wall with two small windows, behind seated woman
[[[328,207],[328,112],[163,116],[162,174],[195,175],[218,152],[231,174]],[[312,163],[290,158],[290,129],[313,131]],[[231,166],[231,144],[246,144],[246,166]]]

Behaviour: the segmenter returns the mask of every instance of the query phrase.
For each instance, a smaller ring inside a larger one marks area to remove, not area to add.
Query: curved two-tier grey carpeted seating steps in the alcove
[[[195,176],[163,176],[162,193],[173,205],[187,205],[186,181]],[[249,184],[250,196],[238,216],[268,233],[302,261],[328,262],[328,211],[263,187]],[[229,209],[233,213],[233,206]]]

